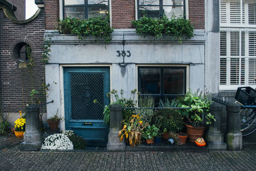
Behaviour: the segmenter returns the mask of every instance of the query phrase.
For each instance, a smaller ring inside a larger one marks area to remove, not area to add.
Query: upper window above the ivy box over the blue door
[[[109,10],[108,0],[63,0],[63,18],[86,19],[106,16]]]

